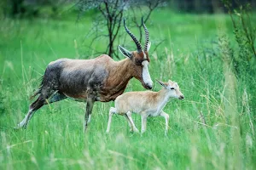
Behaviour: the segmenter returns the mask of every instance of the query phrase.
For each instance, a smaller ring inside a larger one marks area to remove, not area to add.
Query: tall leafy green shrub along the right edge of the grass
[[[230,19],[234,29],[233,33],[238,46],[237,51],[233,51],[228,55],[228,57],[230,57],[230,66],[234,68],[234,73],[236,74],[238,81],[241,82],[241,86],[244,88],[242,90],[238,90],[238,93],[240,95],[247,94],[247,92],[249,94],[253,94],[253,88],[256,86],[256,82],[252,81],[256,75],[256,27],[253,25],[253,22],[255,21],[253,21],[251,16],[251,6],[249,3],[244,5],[236,3],[238,8],[234,8],[234,4],[231,3],[230,0],[224,0],[223,3],[230,14]],[[227,39],[227,37],[224,39]],[[230,51],[232,50],[233,49],[230,49]],[[252,108],[255,107],[254,100],[254,95],[247,98],[248,105],[251,105]],[[247,111],[247,115],[250,116],[250,114],[252,114],[251,109],[247,110],[245,107],[247,106],[242,105],[242,111]],[[256,122],[255,120],[250,121],[254,123]]]

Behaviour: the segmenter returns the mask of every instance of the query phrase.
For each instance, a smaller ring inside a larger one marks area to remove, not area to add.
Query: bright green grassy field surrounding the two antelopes
[[[96,57],[84,49],[92,21],[76,22],[76,17],[0,20],[0,169],[256,168],[256,91],[239,82],[222,59],[219,37],[226,35],[236,49],[226,14],[176,14],[167,9],[152,14],[151,77],[178,82],[185,95],[164,109],[170,115],[167,136],[162,117],[148,118],[147,132],[141,135],[129,132],[125,117],[113,116],[106,134],[113,102],[96,103],[83,133],[85,104],[72,99],[44,105],[26,130],[15,131],[50,61]],[[154,51],[154,42],[161,39],[165,41]],[[126,43],[135,49],[130,40]],[[104,45],[99,41],[93,48]],[[255,75],[247,78],[255,84]],[[125,91],[137,90],[144,89],[132,79]],[[160,90],[155,81],[153,90]],[[140,129],[140,116],[133,118]]]

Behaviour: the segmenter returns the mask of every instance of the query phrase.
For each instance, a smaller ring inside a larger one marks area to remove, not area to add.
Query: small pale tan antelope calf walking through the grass
[[[148,116],[163,116],[166,119],[166,131],[168,131],[169,115],[163,111],[166,103],[171,98],[184,99],[184,95],[179,90],[177,82],[161,82],[156,80],[163,87],[159,92],[127,92],[119,95],[114,101],[114,106],[109,110],[108,127],[106,133],[109,133],[113,114],[125,116],[130,126],[131,132],[139,132],[131,118],[131,113],[139,113],[142,117],[141,133],[146,131]]]

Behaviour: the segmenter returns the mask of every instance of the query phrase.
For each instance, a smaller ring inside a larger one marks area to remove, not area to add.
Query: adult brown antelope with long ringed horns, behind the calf
[[[145,31],[145,44],[140,42],[125,25],[125,31],[137,46],[136,51],[129,51],[119,45],[120,52],[126,59],[114,61],[107,54],[95,59],[57,59],[47,66],[38,95],[29,106],[25,118],[17,125],[17,129],[26,128],[35,111],[43,105],[72,98],[86,102],[84,131],[90,122],[93,105],[96,101],[108,102],[124,93],[127,83],[132,77],[142,82],[143,88],[151,89],[153,82],[148,72],[150,48],[148,29],[142,19]]]

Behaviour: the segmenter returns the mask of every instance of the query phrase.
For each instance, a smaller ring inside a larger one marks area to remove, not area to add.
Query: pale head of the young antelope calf
[[[167,93],[169,94],[170,97],[172,98],[177,98],[177,99],[184,99],[184,95],[181,93],[179,86],[177,85],[177,82],[172,82],[169,80],[168,82],[161,82],[159,80],[156,80],[160,85],[164,88],[166,88]]]

